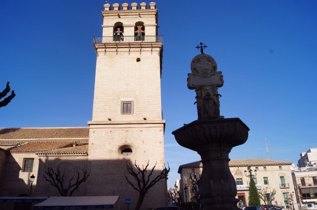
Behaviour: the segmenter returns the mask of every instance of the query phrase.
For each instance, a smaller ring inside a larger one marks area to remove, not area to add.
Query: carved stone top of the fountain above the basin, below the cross
[[[216,62],[210,55],[197,55],[192,60],[191,71],[187,86],[196,91],[198,120],[221,118],[218,87],[224,81],[222,72],[217,72]]]

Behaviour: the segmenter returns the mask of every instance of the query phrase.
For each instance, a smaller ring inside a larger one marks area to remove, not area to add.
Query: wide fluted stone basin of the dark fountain
[[[239,118],[196,120],[174,130],[172,134],[178,144],[197,151],[206,144],[244,144],[248,139],[249,127]]]

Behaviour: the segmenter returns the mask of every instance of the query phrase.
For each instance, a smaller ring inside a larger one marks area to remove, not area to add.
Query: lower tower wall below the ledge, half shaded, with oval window
[[[130,122],[131,123],[131,122]],[[123,148],[131,148],[132,154],[121,154]],[[92,165],[92,178],[89,180],[87,195],[119,195],[120,206],[124,198],[132,198],[133,209],[138,199],[138,192],[125,180],[127,163],[136,162],[148,170],[157,163],[153,179],[163,168],[164,141],[163,124],[122,124],[90,126],[89,163]],[[127,174],[131,181],[132,176]],[[147,194],[142,210],[161,207],[167,201],[166,180],[161,180]]]

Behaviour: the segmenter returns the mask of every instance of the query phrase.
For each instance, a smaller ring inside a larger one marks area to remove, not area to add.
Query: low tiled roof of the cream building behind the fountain
[[[229,167],[248,167],[248,166],[282,166],[282,165],[292,165],[291,162],[285,161],[275,161],[268,159],[237,159],[230,160]],[[179,166],[178,173],[181,172],[182,168],[202,168],[203,164],[201,161],[196,161],[188,164]]]

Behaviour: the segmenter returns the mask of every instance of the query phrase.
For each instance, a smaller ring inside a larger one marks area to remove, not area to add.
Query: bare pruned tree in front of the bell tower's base
[[[150,177],[153,175],[153,172],[155,167],[157,166],[157,163],[154,165],[154,167],[151,170],[147,170],[149,167],[149,161],[145,167],[143,165],[142,165],[142,168],[139,167],[139,165],[136,164],[136,161],[134,162],[134,166],[136,168],[136,171],[132,168],[131,164],[127,162],[126,168],[128,170],[128,173],[136,181],[136,184],[130,181],[126,174],[124,174],[124,176],[127,182],[133,187],[133,189],[139,192],[139,199],[135,207],[135,210],[139,210],[141,208],[143,200],[146,194],[148,193],[149,189],[153,187],[156,183],[158,183],[159,180],[161,179],[166,180],[170,168],[168,167],[167,169],[164,165],[163,166],[164,168],[159,172],[159,174],[156,177],[154,177],[154,179],[151,180]]]

